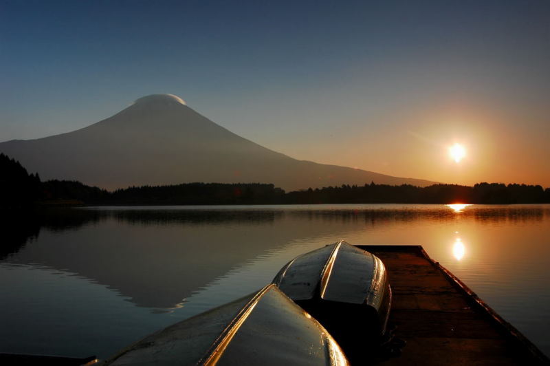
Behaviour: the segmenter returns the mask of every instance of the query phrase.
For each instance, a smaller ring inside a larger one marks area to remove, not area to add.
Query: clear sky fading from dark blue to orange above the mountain
[[[0,0],[0,68],[0,141],[170,93],[300,160],[550,186],[547,0]]]

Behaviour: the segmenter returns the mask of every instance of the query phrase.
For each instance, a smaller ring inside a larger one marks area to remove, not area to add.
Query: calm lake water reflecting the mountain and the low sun
[[[74,208],[1,228],[0,352],[105,358],[346,239],[422,245],[550,354],[550,205]]]

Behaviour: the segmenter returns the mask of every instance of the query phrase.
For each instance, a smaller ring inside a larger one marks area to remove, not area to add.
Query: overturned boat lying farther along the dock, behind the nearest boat
[[[391,288],[370,252],[339,241],[292,259],[273,283],[329,330],[352,363],[386,333]]]

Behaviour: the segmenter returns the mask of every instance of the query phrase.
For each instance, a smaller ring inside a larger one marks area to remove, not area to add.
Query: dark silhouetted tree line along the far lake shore
[[[285,193],[274,184],[186,183],[131,186],[107,191],[81,182],[48,180],[0,153],[0,206],[36,204],[532,204],[550,203],[550,188],[539,185],[478,183],[474,186],[364,184],[329,186]]]

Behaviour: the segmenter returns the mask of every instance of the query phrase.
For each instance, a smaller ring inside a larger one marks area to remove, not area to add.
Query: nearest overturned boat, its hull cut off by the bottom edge
[[[276,286],[144,338],[103,365],[349,365],[332,336]]]

